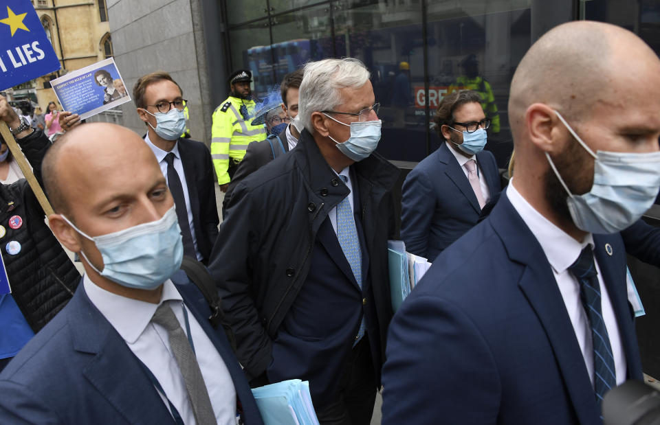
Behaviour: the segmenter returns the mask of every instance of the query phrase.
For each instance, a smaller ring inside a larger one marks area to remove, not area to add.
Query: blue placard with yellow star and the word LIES
[[[60,69],[30,0],[0,0],[0,90]]]

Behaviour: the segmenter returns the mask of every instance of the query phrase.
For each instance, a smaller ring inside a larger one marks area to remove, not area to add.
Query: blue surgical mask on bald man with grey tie
[[[91,264],[87,255],[80,251],[87,264],[99,275],[128,288],[155,289],[169,279],[184,257],[181,230],[175,207],[160,218],[142,225],[129,227],[107,235],[87,236],[68,218],[62,218],[96,244],[103,257],[103,270]]]

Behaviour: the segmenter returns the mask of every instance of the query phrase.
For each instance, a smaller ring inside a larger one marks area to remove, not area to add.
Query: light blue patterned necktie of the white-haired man
[[[347,176],[340,177],[347,183],[349,180]],[[351,194],[349,194],[351,196]],[[355,217],[353,216],[353,209],[351,208],[351,201],[349,196],[344,198],[342,202],[337,205],[337,239],[344,251],[344,255],[351,266],[351,271],[358,281],[358,286],[362,289],[362,251],[360,250],[360,239],[358,238],[358,229],[355,227]],[[355,344],[364,336],[364,317],[360,322],[360,330],[358,336],[355,337]]]

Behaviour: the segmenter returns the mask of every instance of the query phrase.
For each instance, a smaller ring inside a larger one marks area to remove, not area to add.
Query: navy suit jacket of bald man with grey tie
[[[213,330],[201,292],[179,271],[171,277],[186,306],[227,365],[246,424],[263,424],[223,330]],[[120,334],[82,284],[67,306],[0,374],[1,424],[174,424]]]

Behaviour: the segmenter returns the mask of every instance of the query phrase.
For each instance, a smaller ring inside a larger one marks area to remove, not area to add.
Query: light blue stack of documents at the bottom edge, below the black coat
[[[252,389],[265,425],[319,425],[309,382],[299,379]]]

